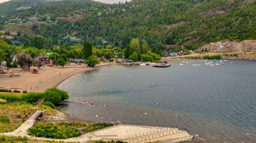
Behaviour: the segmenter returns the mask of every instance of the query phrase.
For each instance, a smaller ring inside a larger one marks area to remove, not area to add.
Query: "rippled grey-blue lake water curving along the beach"
[[[202,143],[255,143],[256,61],[229,62],[179,65],[176,60],[168,68],[114,66],[83,72],[58,86],[72,102],[58,108],[92,122],[177,125]]]

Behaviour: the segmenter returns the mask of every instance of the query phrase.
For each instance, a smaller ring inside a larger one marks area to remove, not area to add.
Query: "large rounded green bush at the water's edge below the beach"
[[[57,89],[56,87],[46,89],[44,96],[46,97],[46,101],[53,104],[60,104],[61,101],[69,99],[69,95],[66,91]]]

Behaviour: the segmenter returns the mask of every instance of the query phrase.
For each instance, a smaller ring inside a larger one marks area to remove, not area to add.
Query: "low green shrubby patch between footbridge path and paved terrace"
[[[28,135],[36,137],[46,137],[46,138],[56,138],[56,139],[65,139],[72,138],[82,135],[77,128],[86,127],[87,132],[96,130],[99,128],[105,128],[113,126],[110,123],[96,123],[96,124],[87,124],[87,123],[69,123],[69,122],[36,122],[33,127],[28,129]]]

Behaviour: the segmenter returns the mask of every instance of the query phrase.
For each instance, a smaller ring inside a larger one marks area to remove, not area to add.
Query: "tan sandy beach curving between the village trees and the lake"
[[[0,88],[9,87],[14,90],[28,92],[36,91],[43,92],[45,89],[57,86],[63,80],[69,78],[74,74],[95,69],[84,65],[70,66],[70,67],[41,67],[38,72],[40,74],[32,74],[31,72],[19,72],[20,76],[10,77],[9,74],[0,75]],[[37,88],[36,88],[37,87]],[[26,88],[26,89],[19,89]],[[32,89],[32,90],[31,90]]]

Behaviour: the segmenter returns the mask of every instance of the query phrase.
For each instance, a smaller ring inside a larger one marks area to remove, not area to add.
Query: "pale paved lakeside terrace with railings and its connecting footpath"
[[[124,141],[128,143],[145,143],[168,140],[169,143],[179,141],[191,140],[190,136],[185,129],[179,130],[176,127],[155,127],[155,126],[140,126],[140,125],[127,125],[118,124],[108,128],[102,128],[97,131],[85,133],[81,136],[67,139],[52,139],[28,136],[28,129],[33,126],[35,120],[44,111],[34,111],[26,119],[26,121],[18,127],[15,131],[9,133],[0,133],[5,136],[27,136],[30,139],[47,140],[47,141],[64,141],[64,142],[80,142],[92,143],[96,140],[104,141]]]

